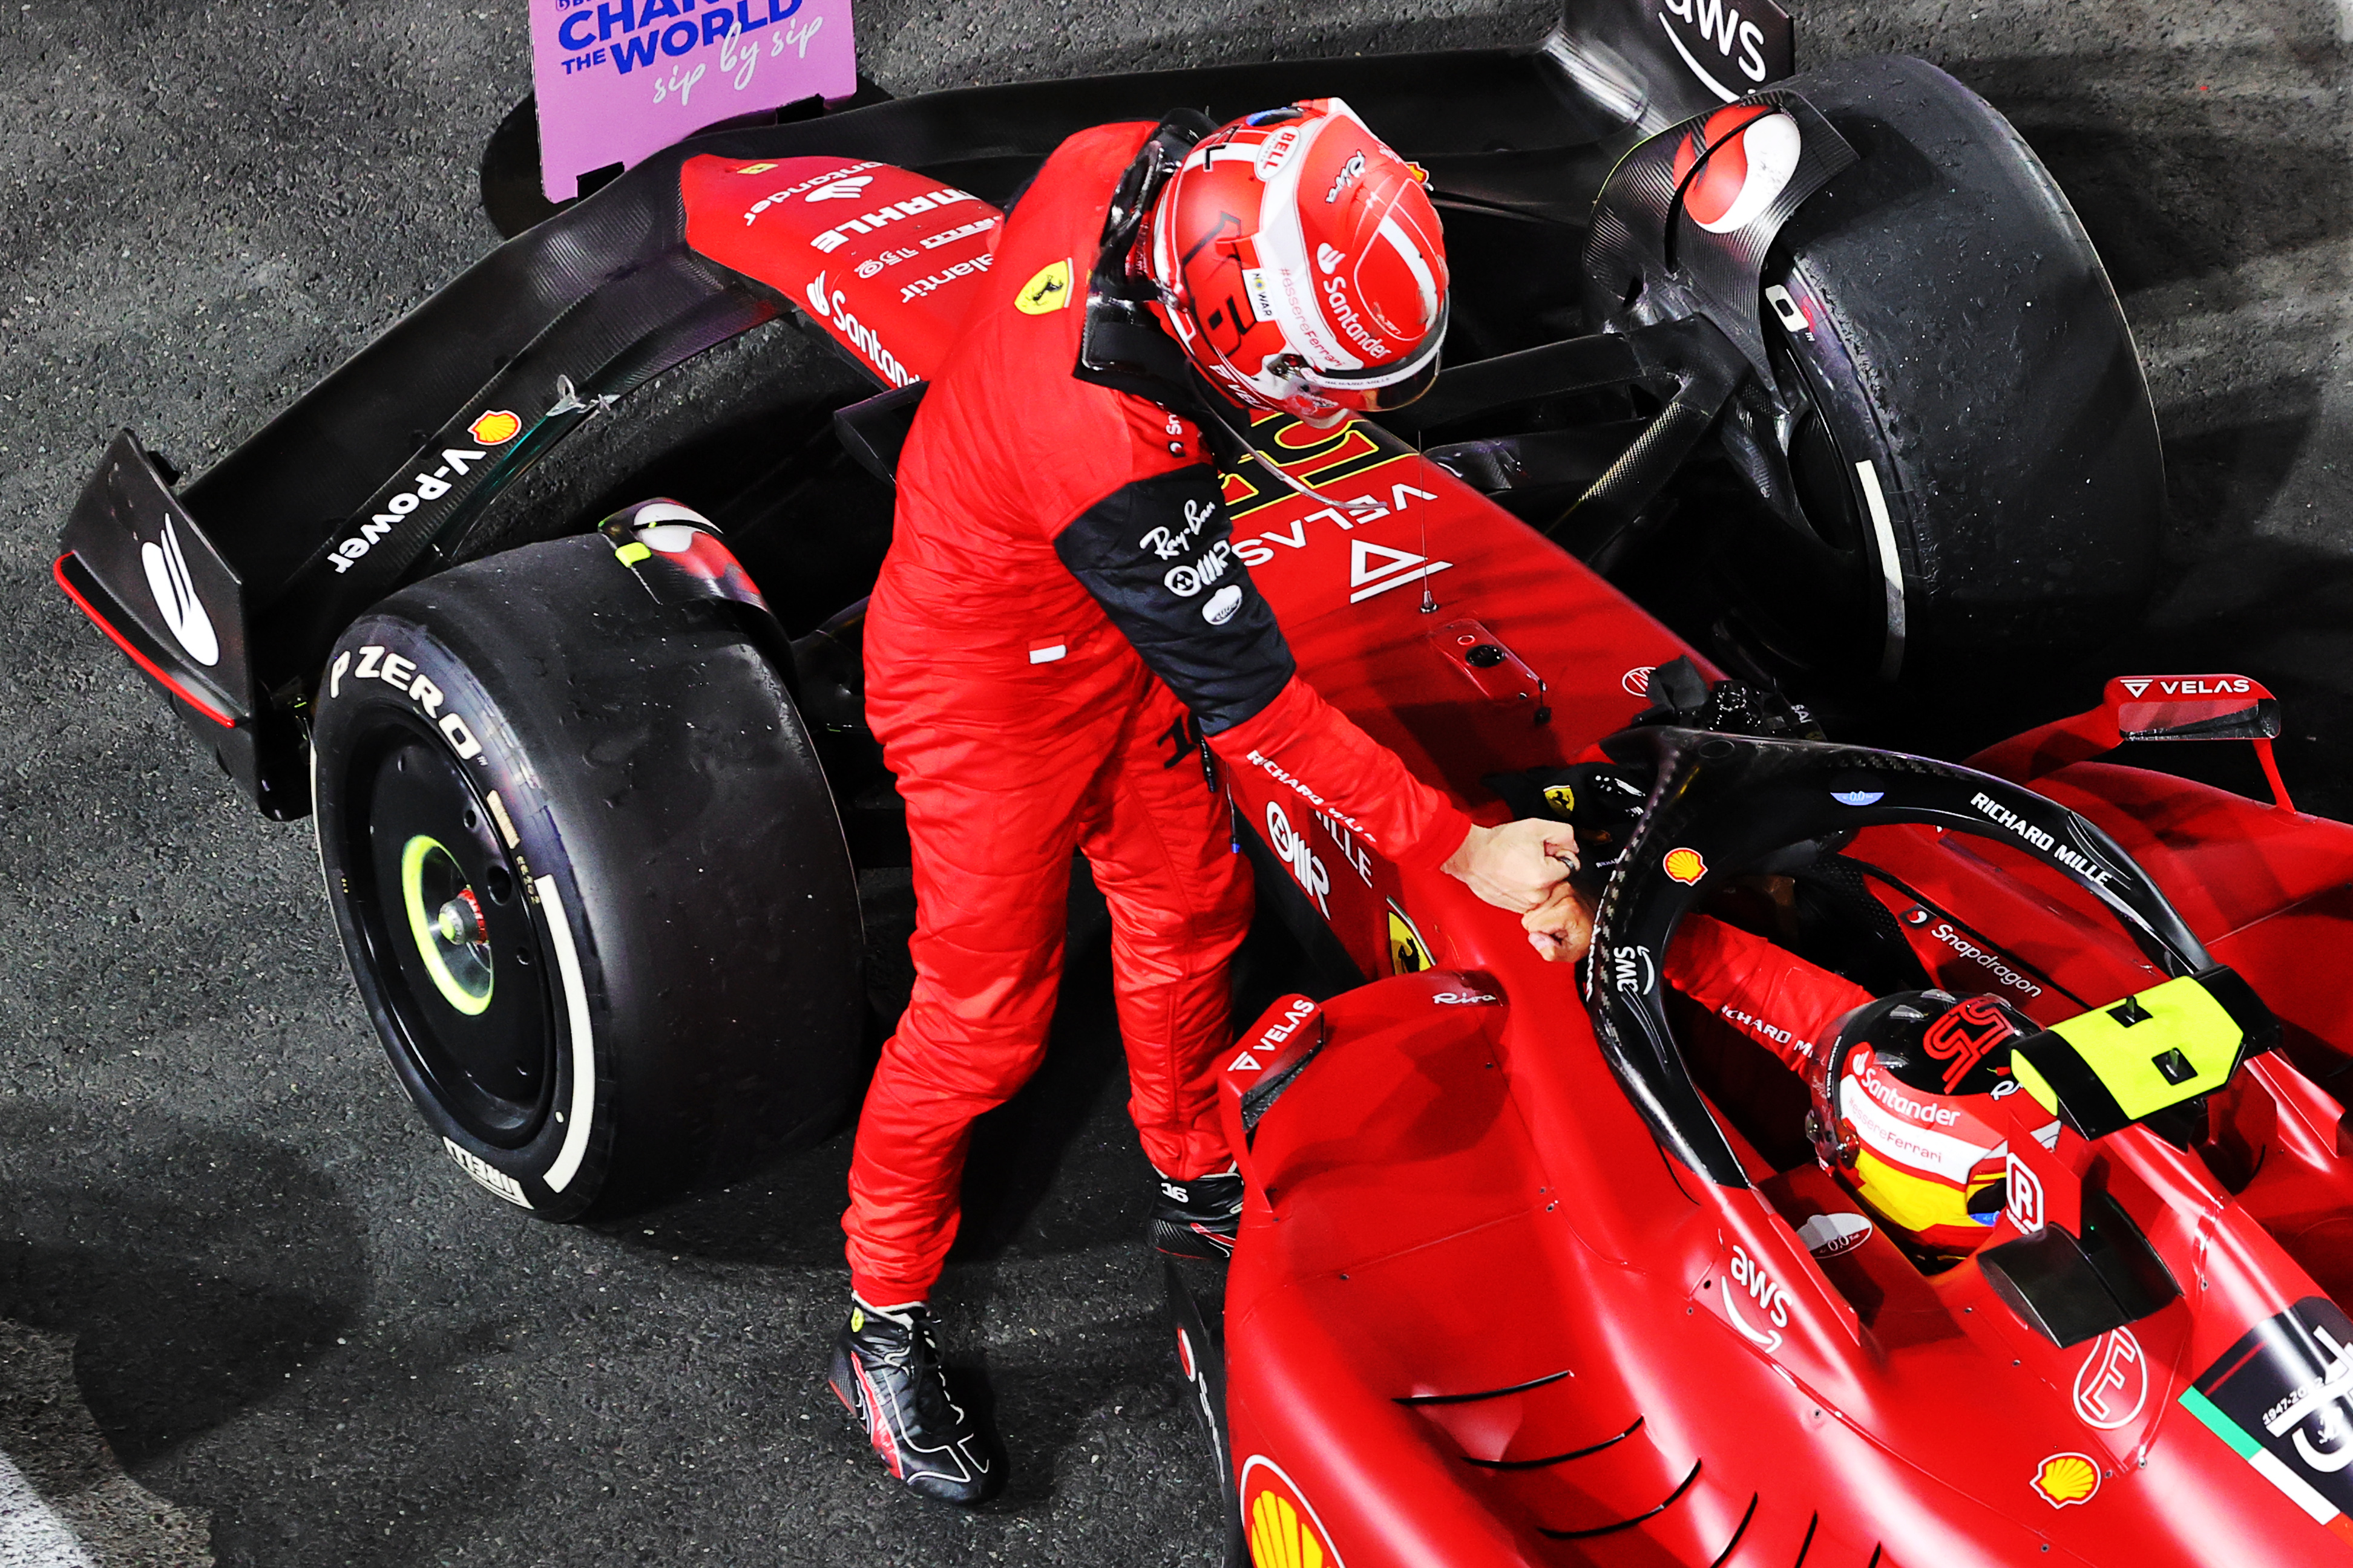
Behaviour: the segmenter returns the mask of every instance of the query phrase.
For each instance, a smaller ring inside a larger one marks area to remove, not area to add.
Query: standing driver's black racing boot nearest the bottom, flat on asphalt
[[[972,1507],[1005,1483],[995,1439],[948,1394],[922,1302],[880,1312],[852,1298],[826,1382],[889,1474],[925,1497]]]

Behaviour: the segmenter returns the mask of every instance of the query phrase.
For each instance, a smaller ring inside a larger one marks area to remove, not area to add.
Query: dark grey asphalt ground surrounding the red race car
[[[819,1387],[845,1140],[628,1225],[501,1213],[393,1088],[308,832],[259,820],[47,581],[118,423],[202,468],[494,244],[475,160],[529,85],[522,16],[0,5],[0,1561],[33,1514],[94,1563],[1214,1561],[1099,905],[1073,900],[1052,1065],[984,1133],[944,1286],[1014,1462],[1000,1505],[948,1514],[880,1481]],[[875,0],[859,35],[908,94],[1544,21]],[[2289,780],[2353,813],[2353,5],[1800,24],[1800,59],[1944,63],[2054,167],[2139,334],[2177,503],[2169,585],[2115,661],[2271,682]],[[647,397],[692,411],[755,376]],[[2087,705],[2087,682],[1915,717],[1958,738]],[[904,886],[868,891],[904,933]]]

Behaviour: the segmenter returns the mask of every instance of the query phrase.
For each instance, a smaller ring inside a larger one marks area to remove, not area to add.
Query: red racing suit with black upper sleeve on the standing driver
[[[899,461],[866,717],[906,799],[915,990],[842,1220],[875,1305],[929,1293],[972,1121],[1045,1053],[1073,851],[1111,905],[1144,1152],[1176,1180],[1226,1168],[1212,1074],[1252,891],[1195,736],[1393,863],[1435,867],[1471,832],[1297,677],[1200,428],[1078,374],[1089,280],[1120,263],[1106,214],[1153,134],[1080,132],[1045,162]]]

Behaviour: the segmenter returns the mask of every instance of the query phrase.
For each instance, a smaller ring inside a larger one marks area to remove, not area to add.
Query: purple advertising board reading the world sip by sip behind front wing
[[[532,0],[539,179],[633,165],[706,125],[859,87],[849,0]]]

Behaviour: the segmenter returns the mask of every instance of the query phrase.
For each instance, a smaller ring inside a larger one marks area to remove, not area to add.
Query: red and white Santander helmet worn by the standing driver
[[[1447,334],[1447,252],[1419,167],[1341,99],[1202,139],[1136,252],[1212,386],[1332,425],[1428,390]]]

